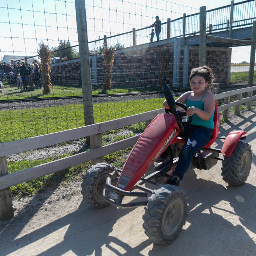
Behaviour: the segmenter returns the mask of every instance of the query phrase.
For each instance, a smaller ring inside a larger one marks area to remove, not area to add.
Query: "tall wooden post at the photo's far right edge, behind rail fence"
[[[248,76],[248,87],[253,84],[254,77],[254,65],[255,65],[255,47],[256,47],[256,21],[253,22],[252,25],[252,41],[251,44],[251,55],[250,55],[250,68],[249,68],[249,76]],[[247,93],[247,96],[252,96],[252,91]],[[251,101],[247,102],[247,107],[251,108]]]

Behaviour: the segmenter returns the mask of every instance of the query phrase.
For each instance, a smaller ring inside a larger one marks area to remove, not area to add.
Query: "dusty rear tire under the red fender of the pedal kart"
[[[231,156],[224,156],[222,160],[222,178],[233,186],[243,185],[250,174],[252,164],[251,145],[239,141]]]

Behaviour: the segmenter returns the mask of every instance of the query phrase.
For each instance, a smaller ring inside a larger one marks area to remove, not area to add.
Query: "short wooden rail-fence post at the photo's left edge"
[[[8,174],[6,156],[0,158],[0,176]],[[0,190],[0,219],[5,220],[14,216],[10,188]]]

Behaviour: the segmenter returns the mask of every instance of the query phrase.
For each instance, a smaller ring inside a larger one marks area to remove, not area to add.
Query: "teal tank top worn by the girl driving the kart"
[[[207,94],[207,92],[206,92],[206,94]],[[204,94],[204,96],[206,94]],[[190,93],[188,95],[190,95]],[[186,98],[187,108],[194,106],[194,107],[197,107],[201,110],[204,110],[204,103],[202,101],[203,97],[199,101],[192,101],[192,100],[189,100],[188,96],[187,96],[187,98]],[[210,118],[208,120],[203,120],[197,114],[193,114],[193,116],[192,116],[193,120],[190,124],[197,125],[197,126],[204,126],[204,127],[213,129],[214,128],[213,115],[214,115],[214,110],[213,110],[212,115],[210,116]],[[187,116],[187,121],[188,121],[188,118],[189,117]]]

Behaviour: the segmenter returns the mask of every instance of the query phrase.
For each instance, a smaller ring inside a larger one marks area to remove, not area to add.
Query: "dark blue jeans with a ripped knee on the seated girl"
[[[177,166],[172,175],[176,175],[182,180],[185,172],[190,166],[192,156],[202,149],[212,137],[213,129],[203,126],[183,125],[184,132],[179,136],[186,139],[183,145]]]

